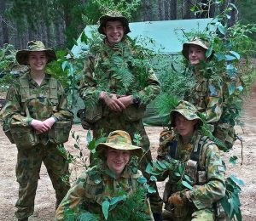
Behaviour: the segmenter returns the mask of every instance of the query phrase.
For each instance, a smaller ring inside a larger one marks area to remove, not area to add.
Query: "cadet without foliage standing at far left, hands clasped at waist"
[[[67,158],[55,144],[61,140],[61,134],[56,134],[56,138],[53,133],[55,125],[66,121],[67,131],[63,127],[61,131],[67,132],[68,139],[73,113],[61,83],[44,72],[45,65],[56,59],[52,49],[45,48],[43,42],[28,42],[27,49],[18,51],[16,59],[20,65],[28,65],[29,70],[10,85],[2,113],[3,122],[8,122],[5,125],[12,133],[10,140],[18,148],[16,177],[20,186],[15,216],[27,220],[34,212],[42,161],[55,189],[56,206],[70,188],[62,180],[69,174]]]

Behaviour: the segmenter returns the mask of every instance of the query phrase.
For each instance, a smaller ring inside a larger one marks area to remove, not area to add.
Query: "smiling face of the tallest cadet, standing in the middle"
[[[120,42],[124,37],[125,27],[119,20],[107,21],[103,31],[108,38],[108,43],[113,46],[115,43]]]

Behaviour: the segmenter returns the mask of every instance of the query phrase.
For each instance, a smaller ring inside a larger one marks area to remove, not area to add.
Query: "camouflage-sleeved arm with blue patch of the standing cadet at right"
[[[209,81],[206,111],[202,114],[207,122],[218,122],[223,111],[223,85],[222,82]]]

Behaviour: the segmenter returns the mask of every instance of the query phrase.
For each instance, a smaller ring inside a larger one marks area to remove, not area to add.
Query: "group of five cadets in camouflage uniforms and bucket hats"
[[[158,177],[158,181],[168,177],[161,199],[155,181],[146,173],[152,156],[142,121],[146,105],[160,94],[160,83],[153,69],[148,68],[145,86],[136,96],[118,94],[120,79],[111,70],[104,70],[102,64],[108,59],[109,50],[120,53],[120,48],[115,47],[118,42],[124,42],[125,49],[131,50],[126,43],[129,23],[121,14],[106,14],[100,18],[98,31],[105,36],[102,47],[108,50],[87,54],[79,95],[85,103],[84,127],[93,130],[95,139],[102,133],[108,134],[106,143],[96,146],[96,156],[102,164],[90,157],[91,165],[98,168],[100,182],[88,171],[71,188],[63,180],[69,175],[67,157],[57,145],[68,139],[73,112],[60,82],[45,72],[45,66],[56,59],[55,52],[45,48],[43,42],[32,41],[16,54],[18,63],[28,65],[29,70],[10,85],[2,111],[3,129],[18,149],[16,178],[20,186],[15,217],[28,220],[32,215],[43,161],[55,189],[56,220],[65,220],[70,213],[79,216],[81,212],[97,213],[103,219],[105,196],[117,195],[120,190],[131,195],[140,188],[138,179],[143,176],[155,190],[145,195],[142,207],[148,220],[216,220],[216,203],[225,194],[224,166],[217,144],[201,133],[202,120],[198,115],[201,112],[207,123],[212,124],[214,134],[214,126],[222,115],[223,88],[221,82],[211,82],[199,72],[201,61],[212,59],[206,57],[208,42],[193,39],[183,44],[183,56],[195,67],[198,81],[193,91],[185,94],[184,100],[171,111],[172,130],[160,133],[157,156],[158,161],[176,159],[185,163],[184,171],[192,180],[193,189],[178,186],[178,177],[170,169]],[[132,72],[132,64],[128,66]],[[98,87],[103,78],[108,80],[106,90]],[[141,137],[140,144],[135,144],[136,134]],[[132,164],[137,170],[131,169],[133,156],[138,159],[138,164]]]

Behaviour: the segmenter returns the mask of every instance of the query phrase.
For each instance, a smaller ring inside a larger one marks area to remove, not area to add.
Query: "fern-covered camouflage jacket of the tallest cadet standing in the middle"
[[[134,66],[132,66],[130,63],[125,63],[125,58],[122,57],[119,48],[110,48],[104,42],[102,42],[102,47],[105,49],[100,52],[89,52],[87,54],[84,61],[83,79],[80,82],[79,88],[79,95],[82,99],[91,99],[96,101],[96,103],[102,90],[107,91],[108,93],[118,94],[117,91],[120,88],[124,88],[122,86],[122,83],[120,82],[121,80],[117,79],[117,77],[114,76],[113,71],[111,70],[112,67],[104,66],[104,64],[106,64],[106,61],[112,58],[110,54],[119,54],[118,57],[124,59],[123,65],[127,67],[129,71],[131,71],[134,77],[141,74],[135,72]],[[129,43],[126,41],[124,50],[129,51],[134,59],[137,58],[136,54],[138,53],[132,51]],[[122,67],[120,66],[120,68]],[[150,67],[145,67],[145,69],[148,72],[148,77],[144,79],[144,86],[142,88],[137,88],[136,97],[143,100],[144,105],[147,105],[150,100],[154,99],[156,95],[159,94],[160,83],[158,82],[154,71]],[[140,78],[143,78],[143,76],[141,76]],[[105,84],[102,84],[102,82],[105,82]],[[131,85],[133,86],[136,83],[137,82],[131,83]],[[131,95],[132,92],[129,91],[129,87],[127,88],[127,90],[128,91],[126,91],[125,94],[119,95]]]

